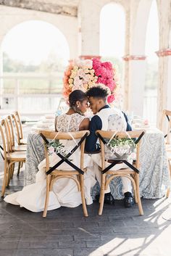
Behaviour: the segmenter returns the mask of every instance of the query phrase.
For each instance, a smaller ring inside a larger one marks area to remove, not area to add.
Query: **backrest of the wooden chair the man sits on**
[[[131,139],[133,140],[133,143],[135,143],[136,146],[136,168],[139,168],[139,152],[140,152],[140,145],[141,145],[141,137],[143,136],[143,134],[145,133],[145,131],[140,130],[140,131],[101,131],[98,130],[96,131],[96,134],[99,136],[99,141],[100,141],[100,145],[101,145],[101,167],[102,169],[105,168],[105,144],[107,144],[109,142],[110,139]],[[135,140],[136,139],[136,140]],[[122,145],[121,145],[122,147]],[[117,154],[118,155],[118,154]],[[119,154],[120,155],[120,154]],[[122,161],[122,157],[117,157],[117,161],[121,160]]]

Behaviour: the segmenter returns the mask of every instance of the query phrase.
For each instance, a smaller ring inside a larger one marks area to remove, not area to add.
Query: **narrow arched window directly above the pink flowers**
[[[100,55],[116,64],[123,78],[122,56],[125,49],[125,12],[120,4],[106,4],[100,15]]]

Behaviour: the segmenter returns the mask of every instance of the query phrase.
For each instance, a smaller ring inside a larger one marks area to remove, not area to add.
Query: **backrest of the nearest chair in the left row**
[[[7,153],[11,152],[9,144],[9,132],[7,128],[7,122],[2,119],[0,122],[0,133],[1,133],[1,154],[4,159],[7,159]]]

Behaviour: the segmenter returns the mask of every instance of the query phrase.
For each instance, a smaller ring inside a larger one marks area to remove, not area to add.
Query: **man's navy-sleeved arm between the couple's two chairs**
[[[90,135],[86,139],[85,150],[86,152],[96,152],[100,150],[99,144],[96,144],[98,137],[96,136],[96,130],[101,130],[102,122],[98,115],[94,115],[90,122]]]

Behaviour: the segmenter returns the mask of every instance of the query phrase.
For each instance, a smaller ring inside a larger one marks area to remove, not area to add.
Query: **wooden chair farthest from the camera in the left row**
[[[27,144],[27,140],[23,138],[22,123],[18,111],[12,113],[12,119],[14,120],[14,128],[17,133],[17,144]]]

